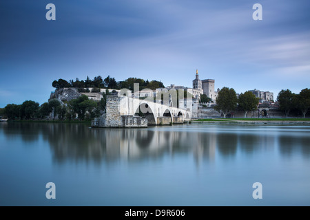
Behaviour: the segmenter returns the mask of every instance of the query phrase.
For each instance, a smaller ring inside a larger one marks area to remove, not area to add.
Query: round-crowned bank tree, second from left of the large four
[[[257,109],[259,98],[251,91],[246,91],[245,94],[240,94],[238,99],[239,107],[245,111],[245,118],[247,118],[248,111],[255,111]]]

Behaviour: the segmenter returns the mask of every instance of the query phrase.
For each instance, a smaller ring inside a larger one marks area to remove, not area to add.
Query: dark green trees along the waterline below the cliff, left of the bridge
[[[0,115],[8,120],[37,120],[50,119],[55,120],[91,120],[99,117],[106,107],[106,96],[109,91],[103,94],[103,98],[98,101],[89,100],[87,96],[82,95],[79,98],[72,99],[69,102],[60,102],[58,99],[51,99],[39,105],[38,102],[27,100],[22,104],[7,104],[0,109]]]

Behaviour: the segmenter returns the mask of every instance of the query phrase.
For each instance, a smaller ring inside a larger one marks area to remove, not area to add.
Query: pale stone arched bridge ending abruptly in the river
[[[150,100],[151,99],[151,100]],[[107,96],[106,112],[92,121],[99,127],[145,127],[156,124],[181,124],[195,117],[196,104],[192,99],[178,101],[173,107],[169,100],[165,104],[152,98],[132,98],[129,96]]]

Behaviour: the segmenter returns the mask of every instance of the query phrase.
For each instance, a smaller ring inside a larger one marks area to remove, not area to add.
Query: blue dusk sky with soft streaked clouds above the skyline
[[[299,93],[310,85],[309,12],[309,0],[0,0],[0,107],[47,102],[59,78],[192,87],[196,69],[216,89]]]

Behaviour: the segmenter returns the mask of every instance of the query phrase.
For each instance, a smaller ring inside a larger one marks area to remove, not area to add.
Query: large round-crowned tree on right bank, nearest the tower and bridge
[[[223,87],[223,89],[220,89],[218,92],[218,97],[216,98],[216,106],[214,109],[216,111],[223,112],[224,118],[226,118],[226,115],[229,111],[232,111],[236,109],[237,107],[237,94],[234,89],[229,89],[227,87]]]

